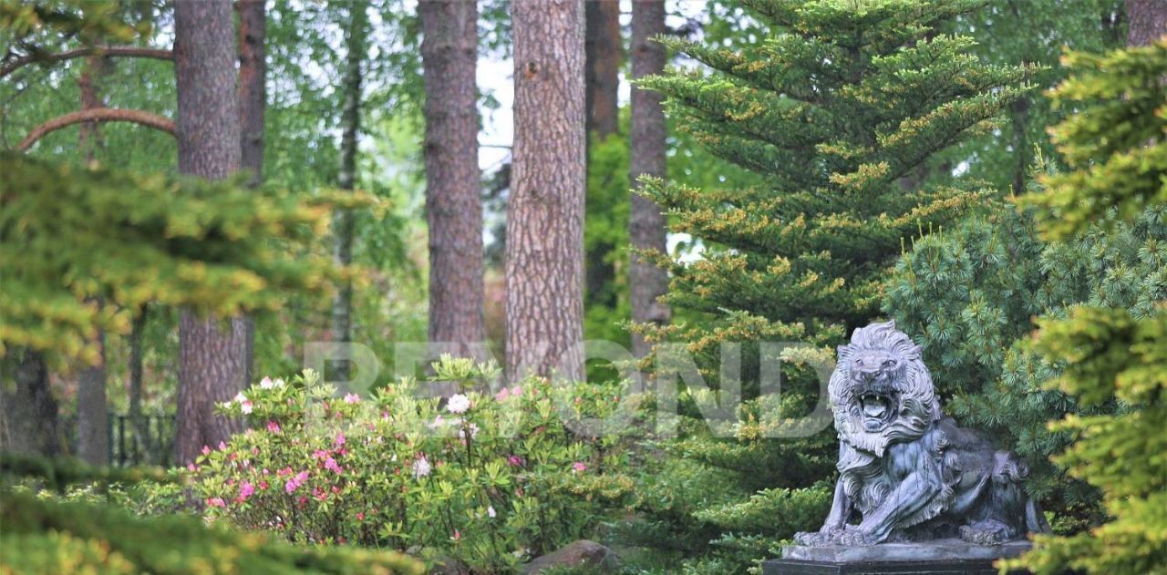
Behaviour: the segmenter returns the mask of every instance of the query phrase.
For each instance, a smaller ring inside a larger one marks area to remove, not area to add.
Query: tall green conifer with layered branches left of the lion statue
[[[648,187],[675,217],[672,231],[704,246],[703,258],[689,265],[657,254],[672,273],[666,303],[704,318],[636,329],[651,342],[686,342],[713,381],[721,344],[745,343],[742,385],[756,394],[759,349],[752,343],[840,343],[879,315],[901,238],[937,229],[987,195],[976,182],[948,178],[906,189],[901,178],[991,129],[1027,90],[1028,70],[985,65],[967,54],[972,40],[936,33],[980,1],[745,5],[768,30],[756,43],[731,49],[663,40],[708,71],[640,83],[662,92],[673,119],[711,153],[756,171],[762,184]],[[736,570],[777,553],[776,544],[794,531],[817,528],[830,504],[833,434],[764,439],[762,413],[805,411],[817,395],[809,369],[787,366],[783,376],[784,397],[739,409],[734,440],[715,441],[699,425],[683,423],[691,435],[663,446],[696,462],[682,472],[692,481],[670,482],[670,500],[650,506],[647,518],[690,545],[713,533],[720,551],[706,568]],[[682,408],[691,414],[694,401]],[[689,511],[692,499],[712,497],[704,485],[725,496]]]

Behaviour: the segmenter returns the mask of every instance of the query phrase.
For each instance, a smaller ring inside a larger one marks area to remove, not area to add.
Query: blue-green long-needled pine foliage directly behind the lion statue
[[[1039,239],[1033,210],[995,205],[917,240],[887,285],[883,309],[923,345],[946,411],[1032,464],[1027,489],[1057,514],[1060,531],[1096,523],[1102,511],[1092,488],[1049,462],[1070,437],[1046,422],[1079,406],[1041,390],[1060,369],[1028,349],[1030,317],[1064,316],[1083,303],[1153,314],[1167,299],[1163,218],[1152,209],[1132,224],[1050,244]]]

